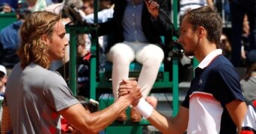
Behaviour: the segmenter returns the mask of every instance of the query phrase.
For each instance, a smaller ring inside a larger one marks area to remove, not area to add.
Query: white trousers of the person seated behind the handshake
[[[129,78],[129,64],[133,60],[143,65],[138,77],[138,86],[141,87],[143,98],[146,98],[156,80],[164,53],[162,48],[153,44],[121,42],[112,46],[106,57],[113,63],[112,88],[115,99],[118,98],[119,83],[122,79]]]

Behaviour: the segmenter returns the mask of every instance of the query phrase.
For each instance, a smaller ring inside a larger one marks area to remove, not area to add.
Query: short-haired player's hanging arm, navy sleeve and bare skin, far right
[[[240,133],[243,119],[246,117],[247,112],[247,106],[240,87],[240,77],[231,65],[218,66],[216,70],[219,72],[218,82],[222,83],[216,86],[216,88],[221,89],[218,95],[219,100],[228,109],[228,113]]]

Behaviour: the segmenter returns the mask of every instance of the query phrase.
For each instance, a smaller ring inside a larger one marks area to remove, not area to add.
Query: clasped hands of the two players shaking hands
[[[141,88],[135,80],[122,80],[119,87],[119,97],[124,96],[131,101],[132,106],[138,105],[142,97]]]

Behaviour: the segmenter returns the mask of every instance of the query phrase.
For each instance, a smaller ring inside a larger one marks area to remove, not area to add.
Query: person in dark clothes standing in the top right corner
[[[256,2],[254,0],[231,0],[231,62],[234,66],[241,66],[241,46],[243,28],[245,25],[244,17],[248,16],[249,23],[249,51],[256,49]],[[247,28],[248,29],[248,28]],[[248,33],[248,32],[247,32]]]

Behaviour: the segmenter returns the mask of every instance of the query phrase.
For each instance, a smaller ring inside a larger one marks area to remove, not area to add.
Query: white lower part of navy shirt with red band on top
[[[223,108],[213,95],[193,92],[189,100],[188,134],[217,134],[220,131]]]

